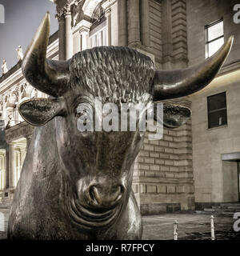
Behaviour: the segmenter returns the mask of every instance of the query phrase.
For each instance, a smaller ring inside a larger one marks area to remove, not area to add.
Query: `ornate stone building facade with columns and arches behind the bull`
[[[64,60],[71,58],[79,50],[94,46],[129,46],[150,56],[157,69],[184,68],[205,57],[205,51],[202,51],[202,47],[205,49],[205,42],[199,41],[199,38],[204,36],[206,24],[198,25],[196,21],[193,10],[203,8],[199,7],[197,2],[54,0],[59,30],[50,38],[47,56]],[[199,2],[204,2],[202,6],[207,6],[214,1]],[[214,6],[211,11],[219,14],[216,10],[217,6]],[[204,14],[197,16],[198,19],[205,17]],[[210,18],[214,19],[214,16],[210,15]],[[194,31],[195,27],[198,29],[198,36]],[[27,144],[34,130],[34,127],[22,122],[18,106],[26,98],[46,97],[27,84],[20,67],[21,62],[18,62],[0,78],[1,118],[6,123],[6,141],[9,145],[7,150],[0,150],[2,199],[12,198]],[[218,78],[215,81],[218,81]],[[201,95],[174,100],[193,108],[193,118],[185,126],[176,130],[164,128],[163,138],[159,141],[150,141],[146,134],[142,150],[134,165],[133,182],[133,190],[142,214],[194,210],[196,198],[196,202],[200,203],[206,200],[204,197],[201,198],[201,190],[207,178],[202,179],[199,176],[205,176],[209,170],[202,170],[203,164],[198,165],[198,162],[203,161],[203,158],[201,161],[198,160],[198,155],[201,157],[199,150],[202,150],[198,149],[198,133],[206,133],[206,130],[198,130],[197,126],[198,112],[202,110],[199,104],[202,104],[202,97],[206,97],[206,90]],[[234,129],[237,130],[236,127]],[[210,202],[214,202],[212,198]]]

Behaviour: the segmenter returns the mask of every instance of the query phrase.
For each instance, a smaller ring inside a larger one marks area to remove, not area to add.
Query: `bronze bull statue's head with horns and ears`
[[[131,99],[136,98],[135,92],[138,90],[138,94],[147,98],[148,102],[193,94],[214,79],[230,52],[233,37],[202,64],[184,70],[165,71],[154,70],[150,58],[127,47],[97,47],[82,51],[69,61],[49,60],[46,59],[49,34],[50,17],[47,13],[26,51],[22,72],[32,86],[51,97],[22,102],[19,112],[26,122],[34,126],[45,125],[56,116],[63,117],[56,118],[56,142],[62,170],[66,171],[70,184],[74,184],[71,186],[74,200],[70,202],[74,202],[74,205],[71,205],[70,215],[74,222],[83,226],[100,227],[103,221],[96,222],[96,218],[105,219],[106,213],[109,214],[108,210],[121,205],[119,202],[124,201],[122,198],[130,198],[134,159],[142,145],[143,136],[139,130],[109,134],[79,133],[76,129],[76,103],[86,98],[92,102],[94,96],[98,96],[98,91],[116,91],[120,87],[124,94],[131,95]],[[125,53],[124,58],[122,53]],[[97,58],[99,56],[101,58]],[[125,61],[128,66],[122,64]],[[88,70],[82,68],[86,67],[86,62]],[[98,69],[91,72],[92,66],[98,66]],[[113,71],[114,68],[117,71]],[[110,77],[106,75],[106,70],[110,70]],[[133,76],[131,72],[135,72]],[[124,79],[121,77],[122,73],[126,74]],[[94,78],[91,81],[92,77]],[[97,80],[98,77],[102,80]],[[130,78],[132,82],[129,82]],[[98,81],[106,82],[103,89],[102,83]],[[73,86],[76,83],[80,86]],[[93,85],[94,93],[86,90],[90,84]],[[181,126],[190,118],[190,109],[184,106],[164,104],[163,110],[163,124],[170,128]],[[134,197],[133,194],[131,197]],[[90,213],[87,211],[90,218],[87,225],[86,218],[79,218],[86,214],[86,210],[82,213],[82,207],[91,210]]]

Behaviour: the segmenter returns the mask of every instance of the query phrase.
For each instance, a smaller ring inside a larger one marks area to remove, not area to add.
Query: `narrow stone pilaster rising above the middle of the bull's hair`
[[[118,0],[118,46],[127,46],[126,0]]]

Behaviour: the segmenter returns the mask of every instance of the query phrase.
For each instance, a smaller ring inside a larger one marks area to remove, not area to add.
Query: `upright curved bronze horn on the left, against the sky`
[[[46,58],[50,34],[50,14],[46,13],[22,60],[22,73],[27,82],[45,94],[59,97],[69,82],[69,62]]]

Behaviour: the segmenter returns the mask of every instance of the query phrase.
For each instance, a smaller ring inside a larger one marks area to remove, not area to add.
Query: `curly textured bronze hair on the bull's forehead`
[[[127,47],[94,47],[70,62],[70,88],[77,86],[103,102],[149,102],[153,78],[154,62]]]

